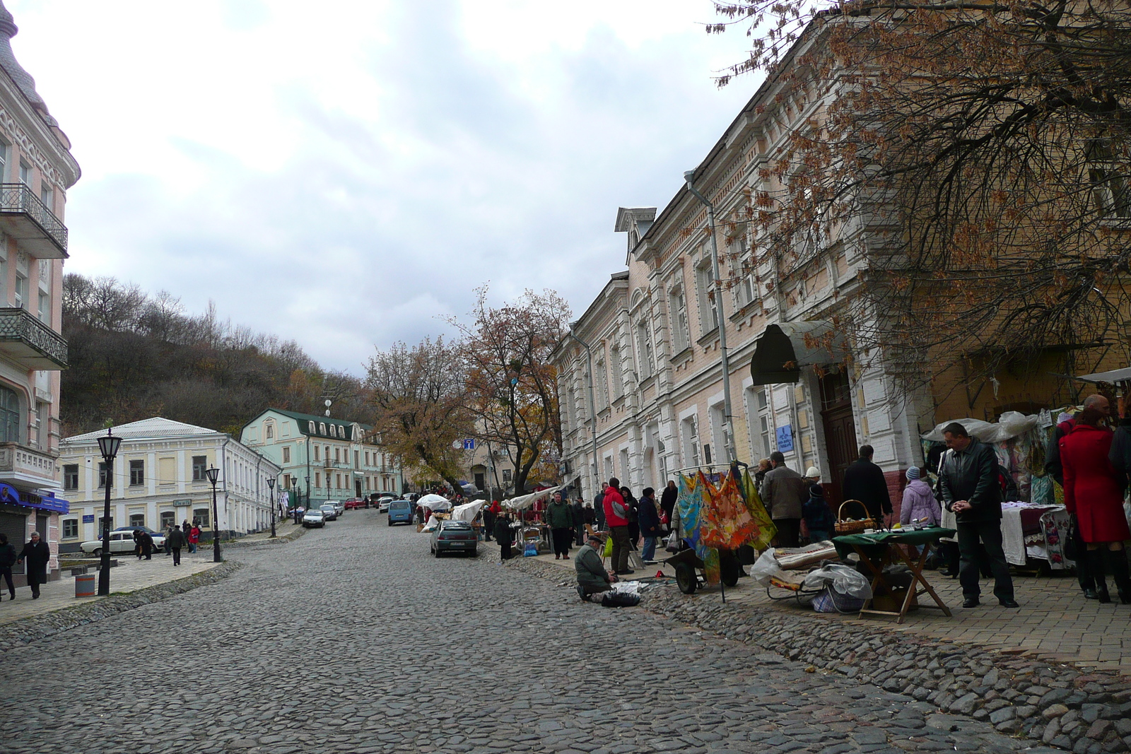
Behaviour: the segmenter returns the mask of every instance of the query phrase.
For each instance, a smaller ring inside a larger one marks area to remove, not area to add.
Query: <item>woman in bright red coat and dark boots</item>
[[[1123,515],[1123,491],[1112,462],[1112,431],[1100,426],[1103,414],[1085,408],[1076,426],[1061,437],[1060,451],[1064,466],[1064,506],[1080,527],[1080,537],[1088,545],[1088,563],[1096,573],[1099,601],[1110,603],[1105,570],[1115,579],[1120,601],[1131,604],[1131,578],[1123,540],[1131,539]],[[1106,566],[1106,569],[1105,569]]]

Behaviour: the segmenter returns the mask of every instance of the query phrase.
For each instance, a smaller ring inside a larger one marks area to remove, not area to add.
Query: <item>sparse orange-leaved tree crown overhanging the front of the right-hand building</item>
[[[716,5],[746,60],[819,103],[760,176],[756,258],[865,243],[840,324],[908,383],[964,361],[1131,359],[1131,5]]]

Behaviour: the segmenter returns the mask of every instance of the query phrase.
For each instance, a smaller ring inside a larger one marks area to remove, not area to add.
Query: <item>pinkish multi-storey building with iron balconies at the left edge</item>
[[[11,51],[11,14],[0,2],[0,532],[17,549],[38,530],[58,578],[59,371],[63,209],[78,181],[70,141]],[[24,566],[14,569],[24,583]]]

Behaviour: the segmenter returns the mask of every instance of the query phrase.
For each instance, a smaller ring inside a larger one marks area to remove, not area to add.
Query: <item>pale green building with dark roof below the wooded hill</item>
[[[400,463],[374,442],[368,424],[268,408],[240,437],[282,468],[293,502],[404,489]]]

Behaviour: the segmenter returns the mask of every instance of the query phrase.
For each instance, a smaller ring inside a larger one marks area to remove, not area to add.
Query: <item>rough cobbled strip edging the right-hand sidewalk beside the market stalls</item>
[[[517,557],[506,565],[571,581],[568,571],[538,561]],[[940,725],[1079,752],[1131,748],[1131,676],[1043,661],[1020,650],[920,639],[880,623],[862,630],[815,613],[724,605],[716,591],[687,596],[668,588],[641,597],[650,613],[926,702],[943,713],[936,716]]]

